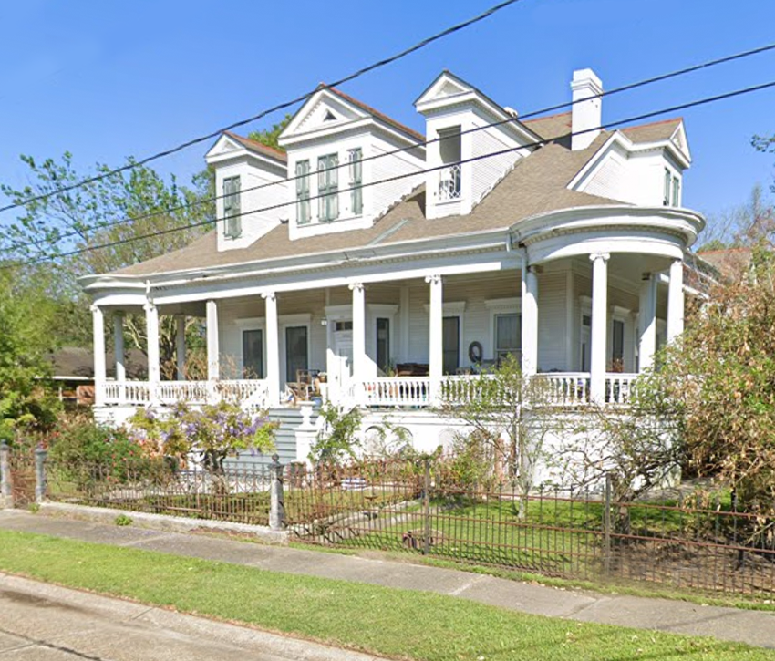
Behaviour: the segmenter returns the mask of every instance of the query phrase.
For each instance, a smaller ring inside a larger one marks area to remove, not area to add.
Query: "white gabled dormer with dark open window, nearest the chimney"
[[[429,140],[428,218],[469,213],[540,141],[516,111],[501,108],[449,71],[430,84],[415,108],[425,116]],[[501,153],[477,159],[493,152]]]

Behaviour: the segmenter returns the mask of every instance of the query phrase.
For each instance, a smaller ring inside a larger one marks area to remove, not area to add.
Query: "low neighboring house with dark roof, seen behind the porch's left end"
[[[94,351],[80,346],[63,346],[47,356],[52,364],[55,386],[60,401],[66,404],[91,406],[95,403]],[[116,356],[107,356],[106,377],[116,377]],[[131,379],[148,377],[148,361],[140,349],[129,349],[123,357],[126,375]]]

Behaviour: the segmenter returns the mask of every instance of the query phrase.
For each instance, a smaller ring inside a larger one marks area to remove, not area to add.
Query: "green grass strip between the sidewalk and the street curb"
[[[0,531],[0,569],[375,654],[439,661],[772,659],[775,651],[522,615],[438,594]]]

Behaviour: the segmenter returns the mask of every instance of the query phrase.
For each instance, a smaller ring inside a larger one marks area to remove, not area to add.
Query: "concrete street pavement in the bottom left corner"
[[[0,574],[3,661],[376,661],[334,647]]]

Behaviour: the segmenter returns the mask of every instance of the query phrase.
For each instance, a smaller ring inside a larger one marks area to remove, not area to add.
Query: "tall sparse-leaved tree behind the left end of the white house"
[[[207,171],[194,177],[193,188],[187,188],[174,178],[165,181],[147,166],[136,166],[57,194],[58,189],[89,176],[107,174],[109,167],[98,164],[90,172],[79,172],[69,152],[59,161],[38,163],[31,156],[21,160],[29,168],[30,183],[21,190],[0,184],[0,191],[11,202],[24,204],[17,218],[5,223],[0,250],[8,259],[18,261],[56,259],[59,277],[52,282],[49,294],[63,312],[68,310],[78,320],[64,327],[80,329],[78,336],[60,336],[62,341],[80,345],[91,341],[88,301],[80,292],[78,276],[116,271],[181,248],[210,229],[214,219],[214,184]],[[49,197],[26,202],[37,196]],[[107,247],[88,250],[104,244]],[[128,315],[125,327],[130,344],[144,350],[145,320],[141,315]],[[50,330],[55,335],[60,332],[57,327]],[[172,357],[173,334],[172,321],[162,319],[162,361]]]

